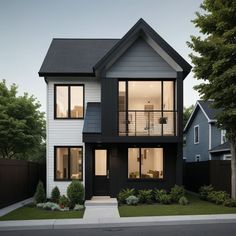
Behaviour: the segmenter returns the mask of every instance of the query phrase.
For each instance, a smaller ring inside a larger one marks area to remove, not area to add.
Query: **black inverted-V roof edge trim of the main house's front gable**
[[[191,65],[184,60],[155,30],[153,30],[142,18],[125,34],[125,36],[95,65],[95,70],[102,70],[107,63],[114,60],[122,48],[130,46],[138,37],[150,37],[162,51],[167,53],[182,69],[184,78],[191,71]]]

